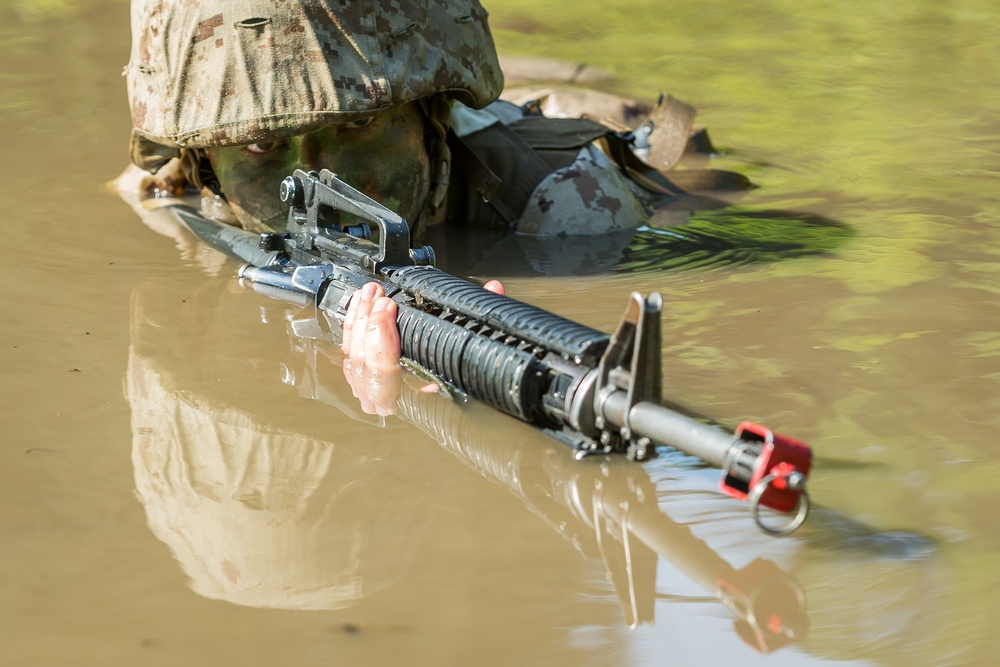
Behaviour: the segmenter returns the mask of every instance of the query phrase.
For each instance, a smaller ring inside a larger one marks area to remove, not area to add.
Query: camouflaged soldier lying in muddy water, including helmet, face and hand
[[[161,188],[201,191],[204,215],[282,229],[280,181],[327,168],[415,240],[430,225],[555,236],[647,219],[620,133],[496,101],[478,0],[134,0],[132,31],[131,160]],[[345,351],[398,366],[395,304],[374,285],[356,301]]]

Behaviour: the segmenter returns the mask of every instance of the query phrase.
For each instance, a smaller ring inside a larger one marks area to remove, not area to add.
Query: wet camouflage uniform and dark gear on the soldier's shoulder
[[[635,229],[656,205],[690,193],[750,186],[734,172],[672,170],[686,150],[696,149],[689,141],[697,133],[694,110],[673,98],[661,99],[646,121],[657,141],[650,156],[669,174],[635,154],[627,126],[549,118],[531,108],[505,101],[482,111],[455,105],[451,224],[537,236],[607,234]]]

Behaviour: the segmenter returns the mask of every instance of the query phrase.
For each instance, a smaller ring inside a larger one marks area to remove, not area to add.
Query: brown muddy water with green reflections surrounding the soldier
[[[676,454],[574,463],[413,392],[365,415],[308,318],[102,190],[125,3],[8,0],[0,662],[992,663],[1000,12],[602,5],[491,11],[506,52],[697,105],[761,187],[610,259],[465,268],[606,330],[661,291],[667,398],[809,441],[807,527],[764,537]]]

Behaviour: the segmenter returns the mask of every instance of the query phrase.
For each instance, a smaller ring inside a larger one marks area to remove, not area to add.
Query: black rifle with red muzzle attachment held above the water
[[[264,234],[257,266],[240,271],[259,289],[308,298],[343,322],[354,292],[379,282],[399,305],[404,357],[535,424],[577,458],[643,460],[654,444],[667,445],[721,468],[722,490],[749,499],[767,532],[805,520],[806,445],[750,422],[730,434],[660,405],[659,294],[633,293],[608,336],[434,268],[430,247],[410,247],[405,220],[330,171],[296,170],[280,197],[290,209],[286,232]],[[761,505],[795,515],[774,527],[761,520]]]

